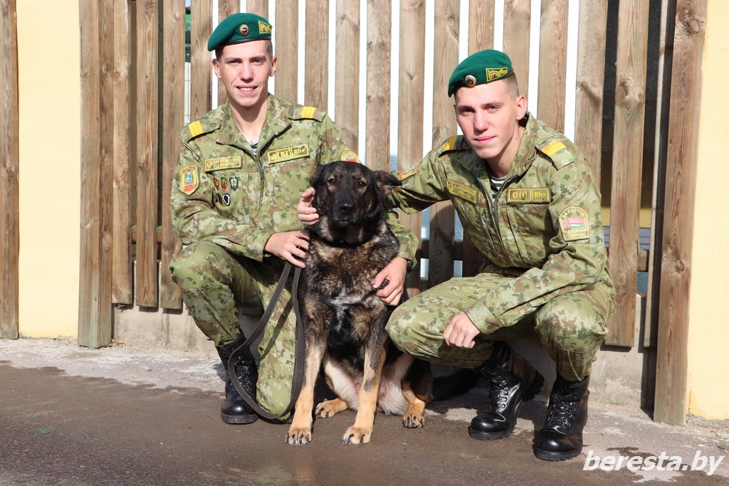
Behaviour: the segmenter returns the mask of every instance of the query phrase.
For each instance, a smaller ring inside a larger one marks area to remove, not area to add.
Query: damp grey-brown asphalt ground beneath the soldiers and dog
[[[550,463],[532,452],[538,399],[506,439],[469,438],[477,386],[429,404],[424,428],[378,414],[370,444],[343,445],[347,411],[295,447],[285,424],[222,423],[222,389],[212,356],[0,340],[0,485],[729,485],[726,421],[667,426],[590,403],[582,454]]]

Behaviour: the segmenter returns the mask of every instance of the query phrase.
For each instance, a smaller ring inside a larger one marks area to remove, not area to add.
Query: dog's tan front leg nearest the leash
[[[324,345],[312,345],[306,349],[304,383],[299,397],[296,400],[294,418],[289,431],[286,433],[286,442],[292,445],[304,445],[311,442],[311,428],[313,426],[314,385],[319,376],[321,357],[324,356]]]

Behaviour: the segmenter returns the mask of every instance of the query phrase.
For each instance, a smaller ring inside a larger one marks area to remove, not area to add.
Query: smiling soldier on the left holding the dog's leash
[[[268,305],[285,261],[304,266],[308,233],[295,206],[316,167],[356,161],[327,114],[268,93],[268,79],[276,73],[271,30],[265,18],[238,13],[211,35],[208,50],[215,50],[213,67],[227,103],[180,133],[182,154],[171,191],[172,222],[184,248],[170,270],[224,365],[226,423],[257,420],[227,371],[233,350],[245,340],[236,307]],[[397,224],[394,213],[389,218],[402,242],[398,260],[414,260],[415,236]],[[378,275],[390,280],[378,292],[383,299],[399,298],[402,291],[402,272],[394,268]],[[281,414],[291,398],[296,319],[290,292],[289,283],[263,334],[260,369],[250,353],[238,354],[234,365],[243,388],[272,414]]]

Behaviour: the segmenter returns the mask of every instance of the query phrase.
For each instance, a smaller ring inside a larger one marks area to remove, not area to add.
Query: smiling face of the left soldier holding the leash
[[[268,99],[268,79],[276,74],[276,56],[271,57],[266,41],[243,42],[223,47],[213,60],[230,103],[243,110],[259,109]]]

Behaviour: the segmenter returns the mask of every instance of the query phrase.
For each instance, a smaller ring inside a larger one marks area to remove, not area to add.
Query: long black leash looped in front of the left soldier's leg
[[[250,396],[247,391],[243,390],[243,386],[241,386],[241,381],[238,380],[238,375],[235,373],[235,356],[238,356],[238,353],[242,353],[244,350],[246,350],[246,348],[250,348],[254,340],[256,340],[257,337],[259,337],[260,334],[263,332],[263,329],[265,329],[268,321],[270,321],[271,314],[273,314],[273,307],[276,306],[276,302],[278,302],[278,299],[281,298],[281,292],[284,291],[284,286],[286,285],[286,280],[288,280],[289,278],[289,272],[291,270],[291,267],[292,264],[286,262],[286,265],[284,266],[284,273],[281,273],[281,278],[278,279],[278,285],[276,286],[276,290],[273,291],[273,297],[271,297],[270,302],[268,302],[268,307],[266,307],[266,310],[263,313],[263,316],[259,321],[258,326],[256,327],[256,329],[254,329],[248,339],[246,339],[246,342],[243,342],[242,345],[238,346],[238,348],[235,348],[235,350],[233,350],[233,353],[230,353],[230,358],[228,359],[227,364],[230,380],[233,382],[233,386],[235,386],[235,389],[238,391],[238,393],[241,394],[241,397],[243,397],[243,400],[246,401],[246,403],[249,404],[258,415],[263,418],[268,418],[269,420],[277,420],[291,412],[291,410],[294,408],[294,404],[296,403],[296,399],[299,396],[299,392],[301,391],[301,386],[304,381],[304,329],[303,325],[301,324],[302,321],[299,310],[298,298],[299,278],[301,276],[300,267],[296,267],[296,269],[294,270],[294,282],[291,291],[294,311],[296,313],[294,377],[291,384],[291,401],[289,401],[289,404],[284,412],[281,412],[280,415],[275,415],[268,412],[268,410],[263,409],[258,404],[255,396]]]

